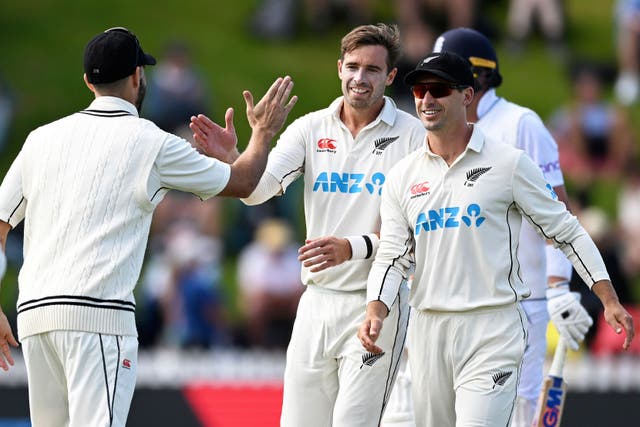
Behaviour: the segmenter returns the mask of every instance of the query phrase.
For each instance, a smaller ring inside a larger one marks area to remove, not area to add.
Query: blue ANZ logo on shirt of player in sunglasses
[[[415,235],[422,232],[435,231],[439,228],[459,228],[462,225],[467,227],[480,227],[485,221],[481,215],[480,206],[472,203],[466,209],[458,206],[451,206],[440,209],[429,209],[427,212],[420,212],[416,220]]]

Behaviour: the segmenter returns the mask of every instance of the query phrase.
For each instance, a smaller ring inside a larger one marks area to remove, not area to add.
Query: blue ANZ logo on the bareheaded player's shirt
[[[385,176],[376,172],[371,177],[363,173],[320,172],[313,183],[313,192],[382,194]]]

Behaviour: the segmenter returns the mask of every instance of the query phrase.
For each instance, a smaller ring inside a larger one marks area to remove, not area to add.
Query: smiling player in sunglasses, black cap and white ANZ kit
[[[527,338],[519,302],[530,290],[517,258],[523,218],[569,257],[611,327],[624,329],[625,349],[632,319],[595,244],[538,166],[467,122],[474,96],[468,61],[433,53],[405,82],[428,136],[388,174],[358,337],[366,350],[381,351],[376,340],[388,307],[415,263],[408,342],[416,425],[506,426]]]

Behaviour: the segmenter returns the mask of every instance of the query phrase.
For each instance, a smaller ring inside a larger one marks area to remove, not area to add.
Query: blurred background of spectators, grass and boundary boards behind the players
[[[573,210],[640,319],[639,1],[4,1],[0,175],[32,129],[91,102],[82,52],[107,28],[128,27],[158,59],[146,70],[143,117],[191,139],[185,126],[192,114],[224,123],[233,107],[242,149],[250,134],[243,90],[258,98],[288,74],[300,97],[289,122],[324,108],[340,95],[340,39],[374,22],[400,25],[405,57],[400,84],[388,94],[412,113],[402,77],[437,34],[469,26],[494,42],[504,77],[498,94],[534,109],[556,137]],[[158,207],[136,291],[140,361],[129,425],[278,425],[284,351],[303,290],[296,259],[304,241],[301,184],[259,207],[222,198],[201,203],[178,192]],[[10,234],[7,255],[0,304],[15,324],[20,229]],[[640,340],[619,354],[597,299],[575,275],[572,287],[597,321],[581,351],[570,354],[563,422],[636,425],[624,420],[640,401]],[[0,373],[0,427],[29,425],[17,358]]]

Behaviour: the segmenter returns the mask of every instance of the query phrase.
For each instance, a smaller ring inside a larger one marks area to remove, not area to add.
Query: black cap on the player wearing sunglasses
[[[473,87],[473,73],[469,61],[452,52],[427,55],[416,68],[404,77],[405,84],[413,86],[418,78],[434,75],[460,86]]]

